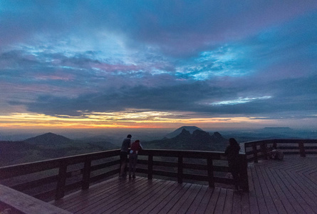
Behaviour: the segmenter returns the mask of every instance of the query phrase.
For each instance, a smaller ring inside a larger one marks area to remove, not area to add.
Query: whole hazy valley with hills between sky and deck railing
[[[317,138],[316,131],[296,131],[289,127],[266,127],[252,131],[204,131],[197,126],[182,126],[172,131],[105,129],[95,132],[6,134],[0,135],[0,166],[118,149],[128,134],[132,135],[132,141],[140,140],[145,149],[193,151],[224,151],[229,138],[236,138],[239,143],[276,138]]]

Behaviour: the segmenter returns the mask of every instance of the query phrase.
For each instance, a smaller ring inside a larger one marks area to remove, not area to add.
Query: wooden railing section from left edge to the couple
[[[119,173],[119,150],[88,153],[0,168],[0,183],[44,201]],[[94,163],[92,165],[92,163]]]

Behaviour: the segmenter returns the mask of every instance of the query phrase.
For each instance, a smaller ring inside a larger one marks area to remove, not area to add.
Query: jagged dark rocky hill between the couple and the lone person
[[[174,138],[147,141],[142,143],[145,148],[164,148],[176,150],[198,150],[198,151],[224,151],[227,147],[227,139],[220,133],[209,133],[196,129],[192,133],[185,128]]]

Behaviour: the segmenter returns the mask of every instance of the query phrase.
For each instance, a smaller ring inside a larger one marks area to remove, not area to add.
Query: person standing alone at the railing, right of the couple
[[[224,156],[228,157],[229,171],[234,178],[234,185],[239,190],[240,183],[240,163],[239,163],[239,143],[234,138],[229,138],[229,146],[224,151]]]

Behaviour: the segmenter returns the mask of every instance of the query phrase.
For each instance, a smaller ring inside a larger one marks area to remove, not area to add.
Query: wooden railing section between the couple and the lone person
[[[223,155],[223,152],[210,151],[143,150],[139,155],[137,172],[147,174],[149,179],[152,179],[153,175],[175,178],[178,183],[183,180],[206,181],[209,187],[214,187],[215,183],[234,184],[233,180],[226,176],[229,168],[227,158]],[[147,160],[142,160],[142,156],[146,156]],[[167,161],[168,158],[174,160]],[[240,155],[240,160],[243,168],[241,185],[245,191],[249,191],[245,156]],[[147,168],[142,168],[142,165]]]

